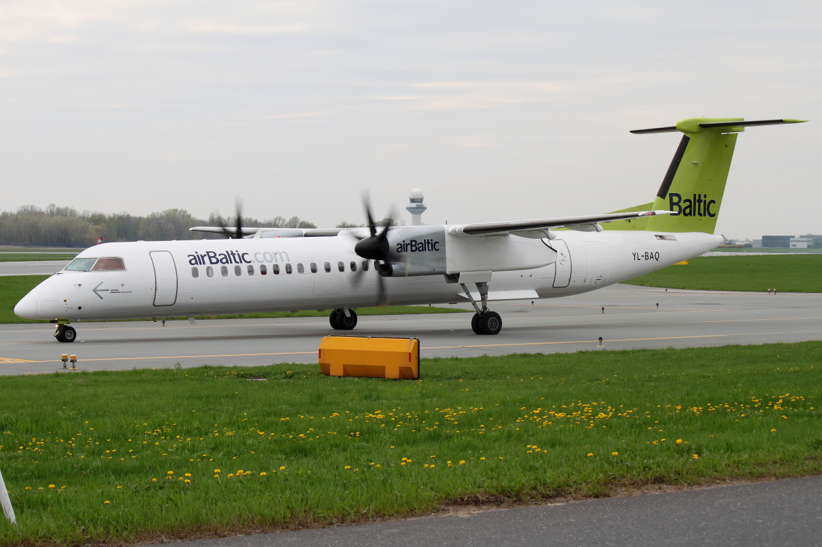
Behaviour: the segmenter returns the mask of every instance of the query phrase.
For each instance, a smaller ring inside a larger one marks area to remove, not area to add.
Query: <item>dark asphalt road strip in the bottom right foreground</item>
[[[822,477],[170,545],[818,546]]]

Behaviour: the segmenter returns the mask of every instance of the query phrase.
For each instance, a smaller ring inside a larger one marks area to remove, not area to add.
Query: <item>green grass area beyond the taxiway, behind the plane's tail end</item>
[[[624,282],[700,291],[822,292],[822,255],[699,256]]]

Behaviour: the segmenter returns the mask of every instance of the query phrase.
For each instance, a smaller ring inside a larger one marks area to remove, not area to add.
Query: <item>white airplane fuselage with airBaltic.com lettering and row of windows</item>
[[[489,300],[588,292],[701,255],[722,242],[702,232],[554,233],[551,241],[516,237],[518,244],[532,246],[535,256],[548,252],[547,243],[556,250],[556,262],[495,269]],[[118,257],[125,269],[62,270],[26,295],[15,313],[31,319],[130,319],[358,308],[376,306],[379,298],[373,263],[363,272],[363,259],[343,235],[106,243],[77,256]],[[351,271],[352,263],[358,271]],[[441,274],[382,281],[391,305],[467,301],[459,283],[446,283]]]

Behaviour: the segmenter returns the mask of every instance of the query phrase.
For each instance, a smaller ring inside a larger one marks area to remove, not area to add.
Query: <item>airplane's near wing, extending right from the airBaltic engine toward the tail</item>
[[[599,223],[629,218],[653,217],[657,214],[671,214],[673,211],[633,211],[626,213],[597,214],[586,217],[538,218],[536,220],[515,220],[501,223],[459,224],[449,226],[448,232],[454,236],[487,236],[512,233],[522,237],[547,237],[548,230],[568,228],[580,232],[602,232]],[[540,235],[542,234],[542,235]]]

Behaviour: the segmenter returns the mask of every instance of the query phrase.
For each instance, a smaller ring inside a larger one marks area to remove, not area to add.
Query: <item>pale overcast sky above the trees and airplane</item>
[[[820,2],[4,0],[0,209],[598,214],[677,148],[630,129],[796,117],[741,134],[717,230],[820,233],[820,94]]]

